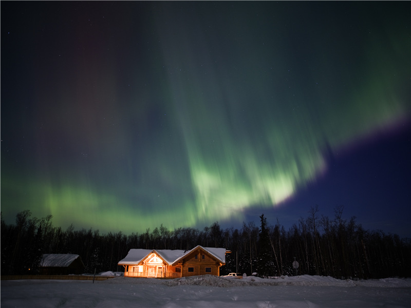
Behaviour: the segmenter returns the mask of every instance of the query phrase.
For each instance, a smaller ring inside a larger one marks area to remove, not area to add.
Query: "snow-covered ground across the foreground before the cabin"
[[[307,275],[236,279],[206,275],[172,280],[116,277],[95,283],[3,280],[1,307],[409,308],[411,279],[352,281]]]

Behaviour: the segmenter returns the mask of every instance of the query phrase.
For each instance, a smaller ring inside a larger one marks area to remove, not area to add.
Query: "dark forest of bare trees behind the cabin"
[[[312,206],[286,230],[278,221],[269,224],[264,214],[260,225],[243,222],[242,227],[222,229],[218,222],[198,230],[171,230],[161,224],[153,230],[129,235],[100,234],[91,228],[67,229],[52,225],[52,216],[32,217],[30,210],[17,213],[15,225],[1,218],[1,275],[39,273],[42,254],[78,254],[85,273],[122,272],[117,265],[129,249],[191,249],[196,245],[223,247],[226,265],[220,275],[231,272],[257,273],[260,277],[320,275],[339,279],[411,277],[411,239],[365,230],[356,217],[343,219],[343,206],[334,217],[320,216]],[[295,269],[292,264],[297,261]]]

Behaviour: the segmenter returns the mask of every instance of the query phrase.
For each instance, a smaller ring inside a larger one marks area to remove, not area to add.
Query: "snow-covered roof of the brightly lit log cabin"
[[[190,254],[198,247],[204,249],[204,251],[214,256],[216,259],[221,261],[221,263],[226,263],[226,248],[211,248],[198,245],[189,251],[183,251],[179,249],[130,249],[127,256],[124,259],[120,260],[118,264],[138,264],[153,252],[159,255],[168,264],[173,264],[186,255]]]

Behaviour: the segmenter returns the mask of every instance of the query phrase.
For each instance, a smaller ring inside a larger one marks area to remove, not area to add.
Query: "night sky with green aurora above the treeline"
[[[410,2],[2,2],[1,211],[411,237]]]

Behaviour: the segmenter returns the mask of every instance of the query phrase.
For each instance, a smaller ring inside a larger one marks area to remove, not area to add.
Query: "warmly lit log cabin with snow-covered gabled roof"
[[[130,249],[118,262],[125,277],[180,278],[197,275],[220,275],[226,264],[226,248],[202,247],[189,251],[171,249]]]

